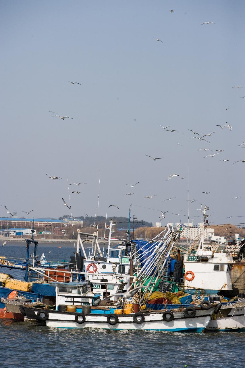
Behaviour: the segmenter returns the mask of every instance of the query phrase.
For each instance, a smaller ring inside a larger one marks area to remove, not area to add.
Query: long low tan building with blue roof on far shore
[[[68,224],[67,221],[64,220],[55,220],[55,219],[24,219],[18,218],[18,217],[0,217],[0,225],[2,226],[18,226],[18,227],[32,227],[34,223],[34,226],[36,227],[44,227],[47,224],[50,224],[52,226],[65,226],[64,224]]]

